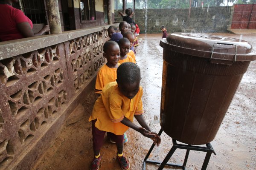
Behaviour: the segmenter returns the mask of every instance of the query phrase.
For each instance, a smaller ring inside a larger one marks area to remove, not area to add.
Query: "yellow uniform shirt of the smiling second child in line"
[[[119,65],[118,63],[118,66]],[[95,93],[101,94],[102,88],[104,88],[105,85],[109,82],[116,81],[116,70],[117,68],[109,68],[106,64],[100,68],[96,78]]]

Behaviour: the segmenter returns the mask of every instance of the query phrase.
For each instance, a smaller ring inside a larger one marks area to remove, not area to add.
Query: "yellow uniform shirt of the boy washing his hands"
[[[133,122],[134,115],[143,114],[142,94],[143,89],[140,86],[136,96],[128,99],[119,91],[116,82],[108,83],[94,104],[89,122],[97,119],[95,126],[99,130],[116,135],[124,134],[129,127],[121,123],[122,119],[126,117]]]

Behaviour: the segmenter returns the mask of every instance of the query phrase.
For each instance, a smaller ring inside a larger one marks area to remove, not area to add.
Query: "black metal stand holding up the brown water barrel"
[[[163,129],[161,128],[158,135],[160,136],[162,134],[162,132],[163,132]],[[190,150],[197,150],[197,151],[206,152],[204,163],[203,163],[203,166],[202,166],[202,169],[201,169],[201,170],[206,170],[212,153],[214,153],[214,155],[216,155],[216,153],[213,150],[212,145],[210,143],[206,144],[206,147],[200,147],[200,146],[194,146],[194,145],[191,145],[191,144],[177,144],[176,140],[172,139],[172,144],[173,144],[173,146],[172,146],[171,150],[169,151],[169,153],[167,154],[167,156],[165,157],[163,162],[160,162],[160,161],[148,160],[148,156],[150,155],[150,153],[152,152],[152,150],[155,146],[154,143],[153,143],[152,146],[150,147],[150,149],[148,150],[148,153],[145,156],[145,159],[143,161],[143,170],[146,170],[146,163],[147,162],[154,163],[154,164],[160,164],[160,167],[158,168],[158,170],[163,170],[164,166],[166,166],[166,165],[172,166],[172,167],[181,167],[183,170],[185,170],[186,169],[186,162],[188,160]],[[186,156],[185,156],[183,164],[167,163],[169,161],[169,159],[172,157],[172,154],[175,152],[176,149],[185,149],[186,150]]]

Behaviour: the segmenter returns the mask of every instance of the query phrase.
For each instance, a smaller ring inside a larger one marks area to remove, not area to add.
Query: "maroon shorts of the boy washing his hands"
[[[104,137],[106,132],[99,130],[97,127],[95,127],[95,122],[97,119],[92,120],[92,132],[93,132],[93,150],[100,150],[100,148],[103,145]],[[111,138],[111,140],[115,141],[116,144],[122,144],[124,140],[124,135],[116,135],[111,132],[107,132],[108,136]]]

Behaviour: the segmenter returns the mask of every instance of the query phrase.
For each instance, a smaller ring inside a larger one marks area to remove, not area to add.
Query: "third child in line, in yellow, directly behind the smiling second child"
[[[122,64],[123,62],[134,62],[134,59],[128,54],[130,50],[130,41],[127,38],[122,38],[118,42],[120,48],[120,59],[119,63]]]

